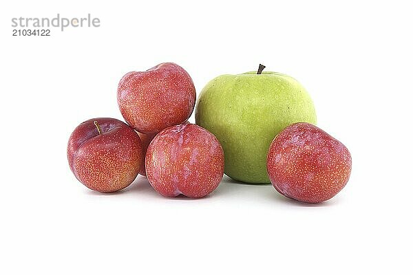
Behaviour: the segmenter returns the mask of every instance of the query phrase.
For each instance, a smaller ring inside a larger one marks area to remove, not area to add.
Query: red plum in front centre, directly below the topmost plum
[[[149,183],[161,195],[209,195],[224,175],[224,151],[215,135],[195,124],[171,126],[156,135],[145,157]]]

